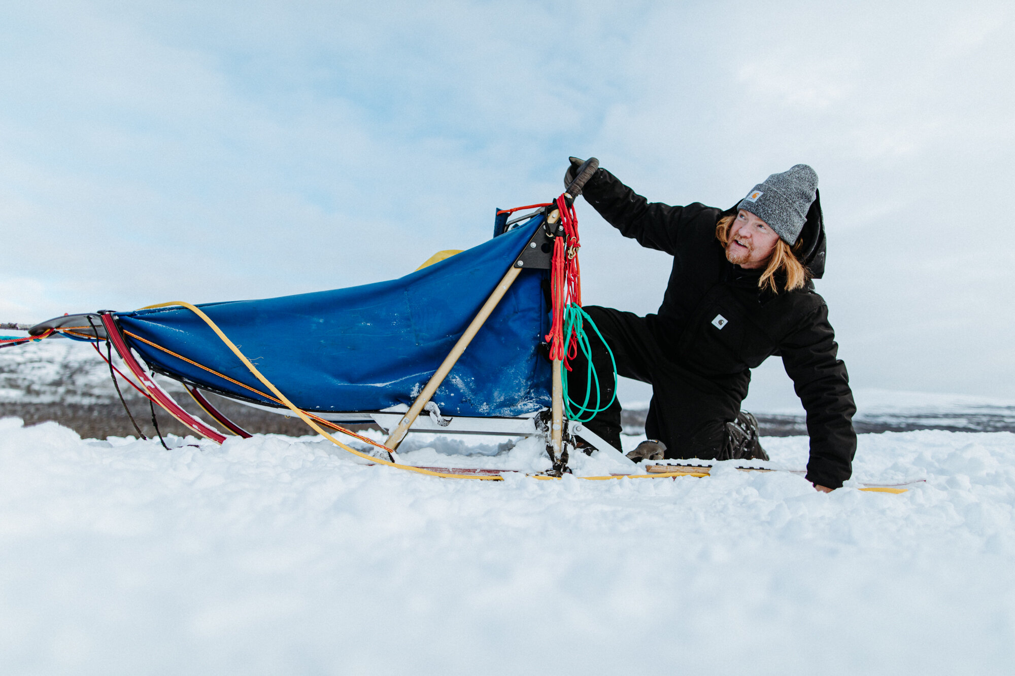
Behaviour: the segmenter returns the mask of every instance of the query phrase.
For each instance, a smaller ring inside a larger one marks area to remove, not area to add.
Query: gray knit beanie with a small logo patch
[[[817,173],[807,164],[794,164],[754,186],[737,208],[768,223],[783,242],[793,246],[804,229],[817,188]]]

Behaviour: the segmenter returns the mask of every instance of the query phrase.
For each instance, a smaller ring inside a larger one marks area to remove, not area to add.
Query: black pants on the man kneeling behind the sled
[[[743,457],[744,449],[731,449],[731,444],[736,446],[736,434],[731,434],[728,423],[740,413],[740,402],[747,394],[746,383],[706,379],[674,362],[644,317],[596,306],[584,310],[613,351],[617,374],[652,385],[645,431],[649,438],[666,445],[668,459]],[[592,327],[587,326],[586,331],[604,401],[609,401],[614,388],[610,355]],[[584,400],[587,380],[588,361],[580,352],[567,375],[567,390],[572,400],[580,403]],[[617,449],[620,410],[620,402],[614,401],[607,410],[585,423]],[[755,434],[753,444],[756,438]]]

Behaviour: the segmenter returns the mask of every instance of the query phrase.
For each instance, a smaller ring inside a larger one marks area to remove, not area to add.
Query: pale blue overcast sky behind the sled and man
[[[2,3],[0,321],[397,277],[569,154],[723,207],[806,162],[854,385],[1015,399],[1013,36],[1010,2]],[[671,259],[578,208],[586,302],[654,312]],[[751,400],[788,392],[772,359]]]

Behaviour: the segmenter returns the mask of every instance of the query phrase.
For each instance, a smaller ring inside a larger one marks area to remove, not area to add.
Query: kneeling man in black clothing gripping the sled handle
[[[571,157],[565,185],[582,160]],[[825,236],[818,177],[807,164],[772,174],[733,208],[650,203],[600,168],[586,200],[621,234],[673,256],[659,313],[638,317],[587,307],[616,360],[617,373],[653,386],[644,442],[628,454],[649,458],[767,460],[757,421],[742,412],[750,369],[781,355],[807,410],[811,454],[807,478],[819,490],[852,474],[856,405],[845,365],[812,278],[824,272]],[[590,334],[594,332],[590,331]],[[598,374],[612,370],[606,346],[593,338]],[[567,376],[586,392],[580,356]],[[609,401],[612,376],[600,387]],[[587,423],[620,448],[616,401]]]

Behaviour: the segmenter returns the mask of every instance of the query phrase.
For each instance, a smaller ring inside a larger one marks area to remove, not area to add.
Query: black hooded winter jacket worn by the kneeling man
[[[758,288],[759,271],[726,259],[716,239],[723,211],[694,203],[650,203],[600,168],[583,195],[603,218],[642,247],[673,256],[673,271],[658,315],[646,320],[664,349],[684,367],[747,396],[750,369],[773,354],[783,357],[807,411],[811,457],[807,478],[837,488],[852,474],[856,404],[845,364],[836,353],[824,298],[808,281],[802,289],[772,293]],[[820,196],[811,205],[798,256],[812,277],[824,273],[825,238]],[[713,324],[726,318],[722,329]]]

